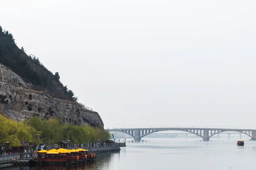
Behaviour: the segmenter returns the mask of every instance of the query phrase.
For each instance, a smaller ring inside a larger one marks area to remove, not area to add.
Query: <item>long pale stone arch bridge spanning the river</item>
[[[239,132],[249,136],[253,141],[256,141],[256,130],[252,129],[223,129],[223,128],[189,128],[189,127],[160,127],[160,128],[122,128],[122,129],[109,129],[109,132],[122,132],[134,138],[134,141],[140,142],[141,138],[151,133],[177,130],[189,132],[200,136],[205,142],[215,134],[221,132]]]

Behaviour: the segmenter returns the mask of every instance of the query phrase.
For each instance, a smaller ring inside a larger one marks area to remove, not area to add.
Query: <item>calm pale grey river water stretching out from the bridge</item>
[[[256,141],[239,138],[145,138],[140,143],[126,139],[120,152],[98,153],[85,165],[12,167],[5,170],[256,170]],[[122,140],[121,140],[122,141]]]

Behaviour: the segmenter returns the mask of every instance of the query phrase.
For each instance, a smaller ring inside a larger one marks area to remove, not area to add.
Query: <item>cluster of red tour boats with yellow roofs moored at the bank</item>
[[[85,149],[67,150],[60,148],[58,150],[41,150],[38,151],[38,157],[30,160],[34,164],[78,164],[86,161],[92,161],[96,158],[95,153],[88,153]]]

